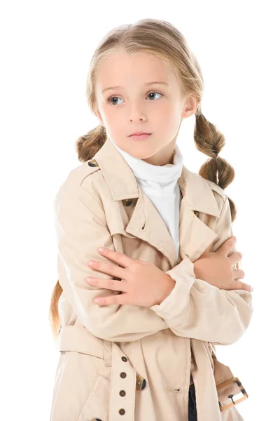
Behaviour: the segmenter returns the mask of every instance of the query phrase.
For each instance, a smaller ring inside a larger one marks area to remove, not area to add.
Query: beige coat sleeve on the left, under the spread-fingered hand
[[[94,196],[83,185],[64,182],[53,203],[59,283],[83,326],[98,338],[117,342],[139,340],[169,328],[149,307],[94,303],[95,297],[119,293],[85,282],[87,276],[112,279],[109,274],[91,269],[89,260],[117,265],[98,252],[100,246],[111,250],[114,246],[97,194]]]

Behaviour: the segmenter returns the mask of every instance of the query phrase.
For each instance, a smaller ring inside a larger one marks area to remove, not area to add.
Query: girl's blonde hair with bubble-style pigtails
[[[200,65],[190,51],[183,34],[171,23],[164,20],[141,19],[134,24],[120,25],[104,36],[92,56],[86,82],[87,102],[92,112],[97,111],[95,86],[100,65],[112,53],[123,52],[129,55],[148,53],[159,58],[174,69],[182,94],[195,95],[199,104],[195,111],[195,146],[200,152],[209,156],[200,168],[199,174],[215,182],[222,189],[228,187],[235,178],[235,171],[230,163],[218,156],[225,145],[223,134],[201,112],[204,83]],[[78,160],[85,162],[92,159],[104,142],[106,142],[106,129],[99,124],[76,140]],[[233,222],[237,210],[235,203],[228,199]],[[57,280],[50,301],[50,324],[55,338],[58,336],[60,326],[58,301],[61,294],[62,287]]]

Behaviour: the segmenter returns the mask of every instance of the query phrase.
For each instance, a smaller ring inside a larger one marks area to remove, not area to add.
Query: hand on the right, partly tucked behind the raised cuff
[[[247,283],[239,281],[245,274],[241,269],[235,269],[242,255],[238,251],[230,253],[234,248],[236,237],[231,236],[218,250],[210,252],[211,246],[194,262],[194,272],[197,279],[202,279],[220,289],[244,289],[252,292],[253,288]]]

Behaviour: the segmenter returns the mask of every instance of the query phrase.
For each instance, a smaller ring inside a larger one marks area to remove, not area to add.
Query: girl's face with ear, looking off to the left
[[[99,69],[96,95],[95,115],[120,149],[153,165],[173,163],[182,119],[192,115],[197,104],[182,98],[171,67],[146,53],[112,53]],[[151,135],[134,140],[129,137],[134,132]]]

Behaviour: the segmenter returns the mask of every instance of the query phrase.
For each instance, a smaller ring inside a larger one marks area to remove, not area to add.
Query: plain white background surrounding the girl
[[[245,421],[279,409],[279,15],[276,1],[6,1],[1,4],[1,419],[47,421],[59,358],[48,321],[57,281],[52,201],[80,165],[76,139],[97,126],[85,99],[90,59],[113,27],[141,18],[178,27],[204,77],[202,112],[235,168],[226,193],[253,319],[217,347],[248,392]],[[194,117],[178,143],[198,172]],[[279,416],[279,415],[278,415]],[[206,421],[206,420],[200,420]]]

